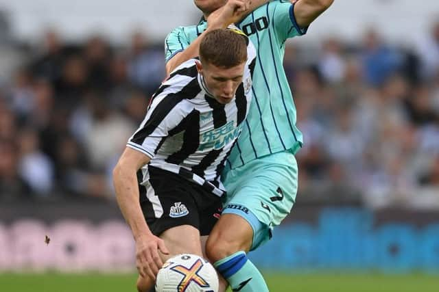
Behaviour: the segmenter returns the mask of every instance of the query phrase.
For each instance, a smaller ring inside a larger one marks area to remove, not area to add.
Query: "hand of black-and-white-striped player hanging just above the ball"
[[[156,279],[158,269],[163,266],[159,250],[163,254],[169,254],[163,239],[155,235],[143,235],[136,239],[136,266],[140,276]]]

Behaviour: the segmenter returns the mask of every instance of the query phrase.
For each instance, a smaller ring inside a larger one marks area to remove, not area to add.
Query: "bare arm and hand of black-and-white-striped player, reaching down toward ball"
[[[136,264],[139,274],[155,279],[163,261],[158,250],[168,254],[163,240],[151,233],[139,204],[137,170],[150,162],[150,157],[132,148],[126,148],[113,170],[117,204],[132,230],[136,241]]]

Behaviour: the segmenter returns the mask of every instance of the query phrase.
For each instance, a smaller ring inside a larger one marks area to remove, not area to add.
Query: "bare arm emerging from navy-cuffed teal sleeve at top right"
[[[308,27],[334,0],[292,0],[294,16],[300,27]]]

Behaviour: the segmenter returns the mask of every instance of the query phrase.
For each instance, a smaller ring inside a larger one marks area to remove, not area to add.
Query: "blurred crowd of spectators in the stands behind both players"
[[[100,35],[69,44],[51,30],[8,46],[0,200],[112,200],[112,167],[165,77],[163,44],[141,31],[118,46]],[[412,46],[373,29],[355,43],[290,40],[284,66],[305,137],[299,202],[439,208],[439,23]]]

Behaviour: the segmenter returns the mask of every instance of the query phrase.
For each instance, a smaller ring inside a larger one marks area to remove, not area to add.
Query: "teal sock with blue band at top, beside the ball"
[[[233,291],[268,292],[261,272],[247,258],[245,252],[236,252],[213,265],[227,280]]]

